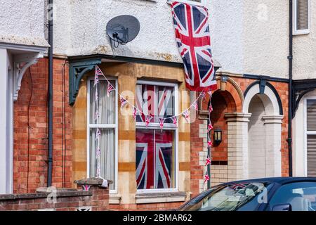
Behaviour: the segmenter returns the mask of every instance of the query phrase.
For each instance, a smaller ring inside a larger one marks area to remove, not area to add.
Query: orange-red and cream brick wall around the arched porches
[[[242,94],[246,91],[247,87],[256,82],[254,79],[244,79],[242,77],[230,77],[233,82],[239,86]],[[281,137],[281,153],[282,153],[282,176],[288,175],[288,145],[287,145],[287,124],[288,124],[288,84],[284,82],[270,82],[281,98],[284,119],[282,120],[282,137]],[[221,82],[218,80],[218,87],[221,86]],[[228,169],[228,139],[232,140],[234,137],[228,135],[228,124],[226,122],[225,113],[242,113],[242,100],[240,94],[232,84],[225,84],[225,91],[216,91],[213,94],[213,113],[211,114],[211,120],[214,129],[221,129],[223,131],[223,141],[219,144],[214,143],[211,150],[213,165],[211,166],[211,185],[221,184],[229,180],[232,176],[232,171]],[[208,101],[204,101],[202,104],[202,110],[207,110]],[[206,159],[206,149],[203,147],[206,145],[206,139],[203,139],[203,135],[200,134],[201,126],[203,127],[204,120],[197,120],[191,124],[191,191],[195,195],[203,191],[203,177],[205,174],[205,168],[201,165],[201,162]],[[212,132],[213,138],[213,132]],[[204,145],[201,144],[204,142]],[[230,153],[232,154],[232,153]],[[232,157],[232,155],[230,155]]]

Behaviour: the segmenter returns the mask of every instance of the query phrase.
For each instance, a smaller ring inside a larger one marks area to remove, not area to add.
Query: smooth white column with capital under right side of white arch
[[[282,176],[281,134],[283,115],[265,115],[265,176]]]

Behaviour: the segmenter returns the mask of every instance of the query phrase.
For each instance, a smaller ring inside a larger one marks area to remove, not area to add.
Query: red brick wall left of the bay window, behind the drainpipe
[[[55,59],[53,70],[53,186],[70,188],[72,108],[68,104],[68,67],[65,60]],[[40,186],[46,186],[47,99],[48,59],[43,58],[25,73],[18,101],[14,103],[14,193],[31,193]]]

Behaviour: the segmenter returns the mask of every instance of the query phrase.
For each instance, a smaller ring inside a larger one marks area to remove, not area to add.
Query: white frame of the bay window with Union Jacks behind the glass
[[[136,85],[138,84],[147,84],[147,85],[156,85],[156,86],[170,86],[174,88],[174,96],[175,96],[175,115],[178,115],[178,84],[169,83],[169,82],[152,82],[145,80],[138,80]],[[136,96],[137,98],[137,96]],[[156,101],[156,98],[155,98]],[[148,127],[146,127],[145,122],[136,122],[136,130],[137,129],[160,129],[159,123],[150,123]],[[176,165],[176,188],[162,188],[162,189],[141,189],[137,190],[136,193],[164,193],[164,192],[178,192],[178,179],[179,179],[179,160],[178,160],[178,142],[179,142],[179,129],[178,126],[174,127],[173,124],[164,124],[164,130],[173,130],[174,132],[174,143],[175,143],[175,165]]]

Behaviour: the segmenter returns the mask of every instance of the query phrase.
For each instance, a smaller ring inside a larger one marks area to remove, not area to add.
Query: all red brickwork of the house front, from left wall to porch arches
[[[64,59],[54,60],[53,82],[53,186],[70,188],[72,179],[72,107],[68,97],[68,65]],[[32,75],[32,79],[31,79]],[[256,82],[254,79],[231,77],[242,92]],[[32,81],[32,82],[31,82]],[[220,83],[218,83],[220,86]],[[282,175],[288,175],[288,84],[270,82],[282,100],[284,120],[282,121]],[[32,99],[31,99],[32,92]],[[46,186],[48,168],[48,60],[30,68],[22,79],[18,101],[14,103],[14,193],[32,193],[36,188]],[[31,99],[31,101],[29,101]],[[208,100],[203,110],[207,110]],[[228,161],[227,123],[225,113],[241,113],[242,101],[238,91],[232,85],[226,91],[213,94],[214,111],[211,115],[214,129],[223,131],[223,141],[212,148],[213,161]],[[190,185],[193,195],[199,193],[199,182],[203,179],[204,167],[199,165],[199,153],[203,151],[203,139],[199,137],[199,124],[191,124],[191,170]],[[167,210],[179,207],[182,203],[154,203],[144,205],[110,205],[112,210]]]

